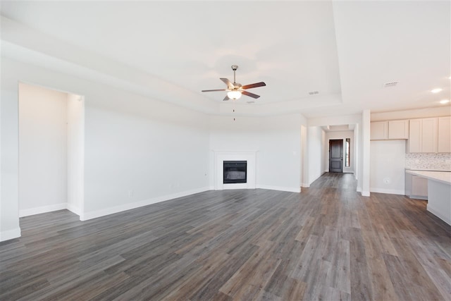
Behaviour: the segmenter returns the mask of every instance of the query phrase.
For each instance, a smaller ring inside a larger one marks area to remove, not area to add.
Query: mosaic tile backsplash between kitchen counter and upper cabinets
[[[406,168],[451,171],[451,153],[443,154],[406,154]]]

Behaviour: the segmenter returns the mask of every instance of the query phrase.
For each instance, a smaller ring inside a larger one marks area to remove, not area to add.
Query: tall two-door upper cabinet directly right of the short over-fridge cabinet
[[[409,152],[437,152],[437,141],[438,118],[409,121]]]

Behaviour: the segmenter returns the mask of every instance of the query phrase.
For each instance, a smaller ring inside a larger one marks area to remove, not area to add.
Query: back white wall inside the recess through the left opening
[[[66,208],[67,94],[19,84],[20,216]]]

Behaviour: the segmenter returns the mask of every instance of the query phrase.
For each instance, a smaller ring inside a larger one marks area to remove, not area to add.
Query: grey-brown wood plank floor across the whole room
[[[450,226],[426,202],[355,192],[202,192],[78,221],[20,219],[0,300],[450,300]]]

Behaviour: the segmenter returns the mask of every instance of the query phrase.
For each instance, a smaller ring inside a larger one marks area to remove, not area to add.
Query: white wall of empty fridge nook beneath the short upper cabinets
[[[370,191],[404,195],[406,140],[371,141]]]

